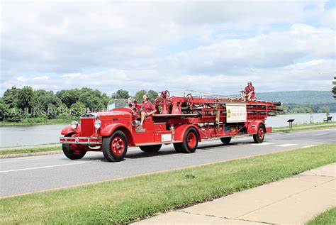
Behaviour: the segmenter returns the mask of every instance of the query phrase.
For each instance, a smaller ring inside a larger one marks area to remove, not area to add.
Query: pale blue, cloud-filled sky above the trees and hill
[[[0,95],[330,90],[334,1],[1,1]]]

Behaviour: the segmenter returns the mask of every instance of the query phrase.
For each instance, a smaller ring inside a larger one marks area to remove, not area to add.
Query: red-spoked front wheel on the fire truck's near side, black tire
[[[111,144],[116,147],[111,148]],[[123,131],[115,131],[111,136],[103,137],[103,156],[109,162],[118,162],[125,158],[128,149],[127,138]]]

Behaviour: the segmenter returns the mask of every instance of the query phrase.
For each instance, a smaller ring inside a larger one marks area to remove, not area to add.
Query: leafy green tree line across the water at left
[[[119,89],[108,96],[98,89],[83,87],[82,89],[67,89],[59,92],[12,87],[4,92],[0,98],[0,121],[20,122],[23,119],[38,121],[45,119],[76,119],[78,116],[90,111],[106,109],[111,99],[128,99],[133,97],[142,101],[143,94],[153,101],[157,92],[153,90],[140,90],[131,96],[126,90]]]

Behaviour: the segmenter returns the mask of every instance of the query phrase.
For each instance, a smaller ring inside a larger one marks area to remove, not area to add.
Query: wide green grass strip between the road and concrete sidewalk
[[[335,153],[335,144],[325,144],[0,199],[0,223],[127,223],[333,163],[336,161]]]

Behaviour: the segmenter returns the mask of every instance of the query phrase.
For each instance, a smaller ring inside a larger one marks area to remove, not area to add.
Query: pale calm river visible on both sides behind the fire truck
[[[325,114],[312,114],[313,122],[322,122]],[[336,113],[330,113],[332,121],[336,119]],[[287,121],[295,119],[294,124],[309,123],[310,114],[290,114],[267,118],[267,126],[288,126]],[[0,146],[30,146],[46,143],[57,143],[60,131],[65,124],[36,125],[36,126],[0,126]]]

